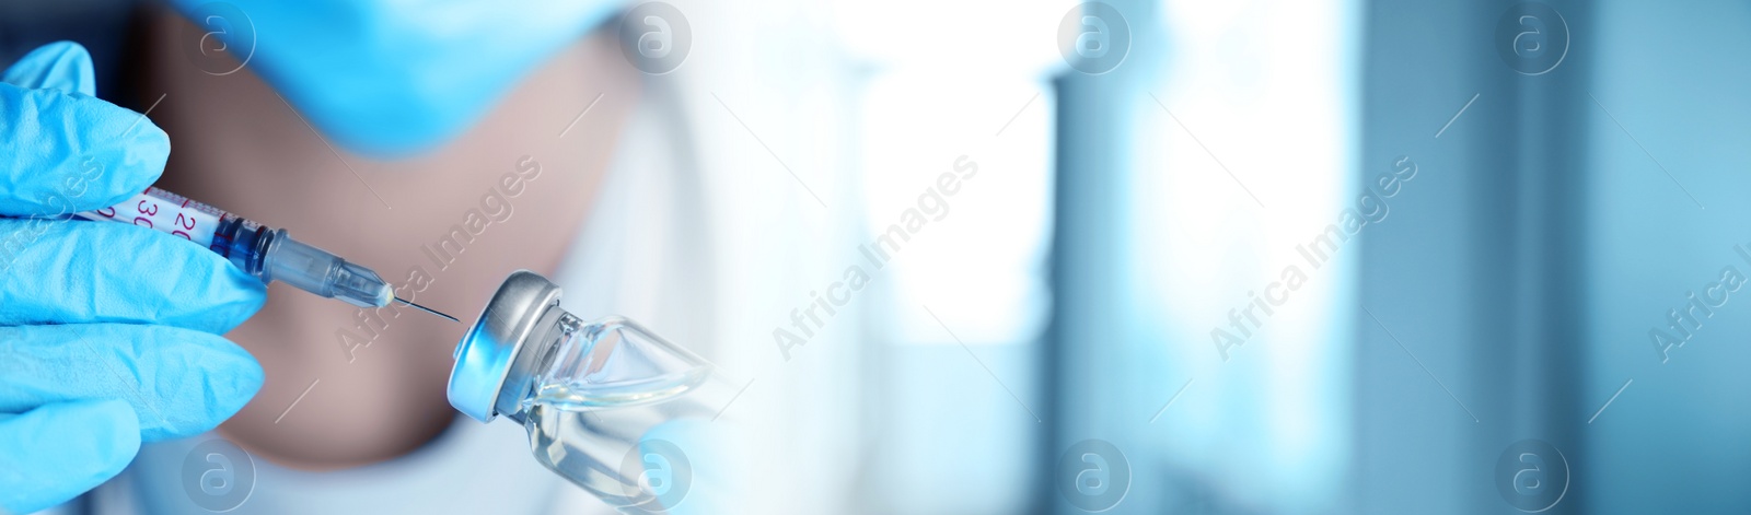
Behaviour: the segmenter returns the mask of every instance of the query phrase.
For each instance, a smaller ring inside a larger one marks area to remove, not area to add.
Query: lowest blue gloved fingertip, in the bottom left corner
[[[0,511],[67,503],[140,452],[140,426],[123,401],[53,403],[0,417]]]

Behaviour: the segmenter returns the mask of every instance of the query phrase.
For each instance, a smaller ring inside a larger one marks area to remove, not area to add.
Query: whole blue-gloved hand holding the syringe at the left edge
[[[91,96],[84,47],[0,81],[0,511],[28,513],[236,413],[261,366],[217,335],[264,287],[170,235],[53,217],[126,200],[170,156],[152,121]]]

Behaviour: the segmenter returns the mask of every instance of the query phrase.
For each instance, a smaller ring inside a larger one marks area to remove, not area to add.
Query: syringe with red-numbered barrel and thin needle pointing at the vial
[[[399,301],[455,322],[452,315],[397,298],[394,287],[376,272],[305,245],[263,224],[180,194],[147,187],[128,201],[75,214],[88,221],[131,222],[182,236],[224,256],[263,284],[280,280],[326,298],[338,298],[361,308],[380,308]]]

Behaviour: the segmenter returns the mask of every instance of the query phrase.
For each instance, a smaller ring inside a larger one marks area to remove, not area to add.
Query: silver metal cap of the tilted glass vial
[[[511,272],[455,345],[450,406],[480,422],[492,422],[501,415],[497,406],[503,389],[508,384],[524,385],[524,380],[508,380],[517,373],[517,354],[543,315],[559,305],[559,298],[560,287],[546,277],[529,270]]]

